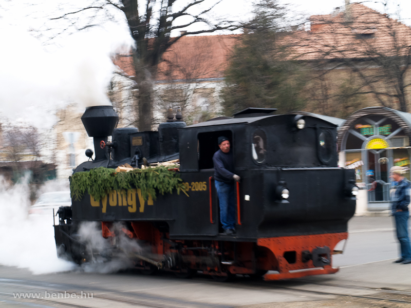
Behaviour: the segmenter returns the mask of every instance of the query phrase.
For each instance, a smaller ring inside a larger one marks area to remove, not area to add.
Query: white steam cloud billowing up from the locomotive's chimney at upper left
[[[55,123],[54,111],[68,103],[83,110],[110,105],[106,91],[115,70],[110,56],[133,44],[124,25],[105,23],[73,33],[47,52],[27,31],[29,16],[18,25],[8,16],[13,7],[0,16],[0,115],[48,128]]]

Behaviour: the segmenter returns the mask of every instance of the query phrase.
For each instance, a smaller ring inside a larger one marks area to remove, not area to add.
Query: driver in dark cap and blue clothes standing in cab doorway
[[[240,177],[234,174],[233,151],[230,150],[228,138],[218,137],[220,149],[214,153],[214,180],[220,203],[220,220],[224,233],[232,235],[235,230],[235,194],[234,181],[239,182]]]

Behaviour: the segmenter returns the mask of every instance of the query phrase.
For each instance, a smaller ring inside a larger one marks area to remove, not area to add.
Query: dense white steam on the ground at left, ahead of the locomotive
[[[11,185],[0,177],[0,264],[34,274],[73,269],[73,263],[57,258],[52,217],[28,217],[29,195],[25,179]]]

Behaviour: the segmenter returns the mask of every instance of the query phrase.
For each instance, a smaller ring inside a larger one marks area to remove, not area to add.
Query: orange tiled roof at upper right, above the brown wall
[[[310,20],[311,31],[287,38],[298,60],[410,54],[411,28],[362,4],[351,4],[348,15],[313,15]]]

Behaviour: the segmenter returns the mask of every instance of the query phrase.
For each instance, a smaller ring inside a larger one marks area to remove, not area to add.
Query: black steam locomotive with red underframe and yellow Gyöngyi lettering
[[[248,108],[233,118],[190,126],[177,115],[158,131],[140,132],[114,129],[118,117],[112,107],[87,108],[82,121],[94,137],[96,156],[74,173],[179,159],[176,172],[189,197],[165,194],[145,201],[136,187],[127,196],[113,191],[100,201],[87,194],[73,199],[71,208],[59,210],[60,224],[54,226],[59,254],[79,263],[96,255],[111,258],[116,239],[126,235],[144,247],[128,255],[144,273],[161,268],[179,276],[202,271],[217,280],[236,274],[274,280],[337,272],[332,255],[348,237],[358,190],[353,170],[337,164],[337,125],[321,115],[274,111]],[[219,136],[230,139],[235,174],[241,177],[237,233],[229,236],[222,234],[213,181]],[[92,151],[87,155],[91,158]],[[130,210],[131,199],[137,210]],[[79,225],[88,221],[98,222],[111,253],[93,251],[81,242]]]

